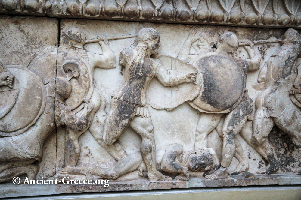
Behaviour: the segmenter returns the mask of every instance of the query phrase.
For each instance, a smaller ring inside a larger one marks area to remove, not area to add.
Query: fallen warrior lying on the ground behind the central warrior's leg
[[[143,172],[146,169],[140,168],[141,163],[143,163],[141,153],[136,152],[122,158],[108,168],[99,166],[66,167],[66,171],[61,172],[61,175],[82,174],[89,176],[92,174],[98,178],[116,179],[138,169],[139,175],[144,176]],[[157,170],[180,173],[175,177],[177,180],[188,181],[190,174],[200,177],[206,172],[212,173],[212,168],[216,165],[219,165],[219,158],[211,148],[184,152],[181,145],[171,144],[157,150]]]

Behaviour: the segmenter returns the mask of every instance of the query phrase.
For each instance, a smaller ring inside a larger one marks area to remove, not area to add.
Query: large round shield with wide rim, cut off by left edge
[[[15,136],[27,130],[42,114],[46,104],[46,90],[41,78],[26,67],[5,67],[15,79],[11,91],[1,87],[1,100],[9,101],[13,106],[0,119],[0,135]],[[10,97],[12,99],[9,99]]]

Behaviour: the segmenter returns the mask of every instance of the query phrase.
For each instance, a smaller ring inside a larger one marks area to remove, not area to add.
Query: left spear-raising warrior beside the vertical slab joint
[[[100,127],[103,124],[100,124],[99,118],[103,115],[102,112],[97,112],[100,108],[102,111],[105,108],[106,100],[105,97],[99,92],[97,89],[93,87],[93,71],[95,67],[99,67],[102,69],[111,69],[116,67],[116,58],[110,46],[108,44],[108,40],[106,37],[98,37],[98,39],[102,39],[103,41],[98,42],[101,46],[103,54],[96,54],[92,52],[88,52],[84,49],[84,44],[86,41],[85,33],[75,27],[67,28],[62,32],[60,47],[59,47],[59,55],[64,56],[64,51],[72,53],[74,58],[66,57],[63,58],[64,62],[62,63],[63,70],[68,72],[69,75],[67,78],[70,79],[74,78],[77,79],[79,76],[87,78],[85,82],[90,82],[88,88],[79,88],[79,90],[88,90],[87,96],[90,94],[90,98],[84,98],[77,101],[83,101],[84,109],[82,110],[79,117],[76,117],[71,109],[64,105],[64,100],[67,100],[66,95],[60,95],[62,98],[57,97],[57,104],[56,104],[56,123],[58,125],[66,125],[66,133],[65,133],[65,166],[76,166],[77,160],[80,155],[80,146],[78,142],[79,136],[84,133],[88,128],[91,134],[97,139],[97,141],[106,148],[117,160],[121,159],[126,155],[124,151],[120,152],[117,151],[114,145],[109,147],[103,142],[103,139],[99,139]],[[62,52],[60,54],[60,52]],[[73,59],[77,57],[81,58],[80,63],[75,63]],[[83,64],[84,63],[84,64]],[[79,64],[85,65],[88,69],[87,71],[79,69]],[[61,80],[58,77],[58,80]],[[76,80],[75,80],[76,82]],[[59,82],[57,82],[59,83]],[[64,83],[64,81],[62,81]],[[66,85],[65,83],[64,85]],[[80,85],[80,83],[79,83]],[[82,85],[85,85],[82,84]],[[65,88],[65,87],[63,87]],[[83,93],[86,91],[83,91]],[[76,98],[76,97],[75,97]],[[58,102],[59,100],[61,102]],[[64,99],[64,100],[63,100]],[[79,112],[79,111],[77,111]],[[69,116],[64,115],[68,113]],[[99,114],[98,114],[99,113]],[[100,116],[98,116],[100,115]],[[101,128],[102,129],[102,128]],[[118,145],[118,144],[117,144]],[[64,169],[63,169],[64,170]]]

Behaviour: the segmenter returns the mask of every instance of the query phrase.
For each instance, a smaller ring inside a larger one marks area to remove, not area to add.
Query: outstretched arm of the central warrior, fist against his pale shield
[[[161,62],[157,68],[157,79],[159,82],[167,86],[177,86],[179,84],[185,83],[185,82],[193,82],[196,83],[196,73],[187,73],[182,76],[178,76],[177,73],[172,73],[170,70],[166,70],[161,66]]]

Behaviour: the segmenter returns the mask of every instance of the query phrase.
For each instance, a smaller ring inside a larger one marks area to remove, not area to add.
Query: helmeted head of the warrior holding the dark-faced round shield
[[[236,52],[238,49],[238,39],[236,35],[232,32],[226,32],[219,37],[217,42],[218,51],[225,53]]]

